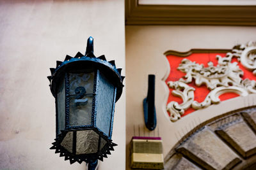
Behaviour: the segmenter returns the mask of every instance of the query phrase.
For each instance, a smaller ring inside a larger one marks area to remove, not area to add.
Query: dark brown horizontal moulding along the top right
[[[126,25],[256,25],[256,6],[140,5],[125,1]]]

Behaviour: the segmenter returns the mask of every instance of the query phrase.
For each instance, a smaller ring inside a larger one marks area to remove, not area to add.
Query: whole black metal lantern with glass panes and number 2
[[[104,55],[93,54],[93,38],[86,53],[67,55],[51,68],[50,87],[56,99],[56,139],[51,149],[74,162],[95,163],[114,150],[111,140],[115,103],[124,85],[122,69]]]

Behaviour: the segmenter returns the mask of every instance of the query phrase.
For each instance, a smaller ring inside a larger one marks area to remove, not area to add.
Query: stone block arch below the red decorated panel
[[[164,169],[256,169],[256,107],[195,127],[170,150]]]

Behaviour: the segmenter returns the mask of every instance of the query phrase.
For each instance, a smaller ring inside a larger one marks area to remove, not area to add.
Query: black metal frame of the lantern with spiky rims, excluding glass
[[[90,70],[94,72],[93,79],[93,94],[92,94],[92,121],[90,125],[79,125],[79,126],[70,126],[69,122],[69,111],[70,111],[70,82],[69,82],[69,73],[79,72],[84,73],[83,71]],[[113,146],[116,146],[115,143],[112,142],[111,136],[113,131],[113,118],[115,111],[115,103],[118,101],[122,94],[122,89],[124,87],[123,80],[124,76],[121,76],[122,68],[116,68],[115,60],[107,61],[104,55],[100,55],[100,57],[95,57],[93,54],[93,38],[88,38],[86,53],[83,55],[78,52],[76,56],[70,57],[67,55],[63,62],[57,60],[56,68],[50,68],[51,76],[47,78],[50,81],[50,89],[52,95],[56,99],[56,139],[54,143],[52,143],[52,147],[50,149],[56,150],[55,153],[60,153],[60,157],[65,157],[65,160],[70,160],[70,164],[74,162],[79,162],[81,164],[84,162],[93,162],[97,159],[103,161],[103,157],[107,157],[107,154],[111,154],[110,150],[114,150]],[[108,78],[108,80],[114,86],[114,94],[113,94],[113,105],[112,105],[112,113],[111,113],[111,124],[109,125],[109,134],[105,134],[100,131],[96,125],[96,115],[95,111],[97,110],[97,94],[99,90],[99,76],[101,73]],[[60,84],[61,80],[65,78],[65,130],[61,130],[60,134],[58,134],[58,102],[57,102],[57,87]],[[101,139],[106,141],[106,145],[99,150],[97,153],[86,153],[81,155],[76,155],[76,132],[77,131],[86,131],[93,130],[97,134],[99,134],[99,144]],[[73,132],[73,146],[72,153],[66,150],[63,146],[61,146],[61,141],[65,138],[67,132]]]

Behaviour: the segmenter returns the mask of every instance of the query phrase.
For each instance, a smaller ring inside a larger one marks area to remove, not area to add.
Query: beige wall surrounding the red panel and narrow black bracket
[[[167,50],[186,52],[191,48],[232,48],[238,43],[256,40],[255,27],[227,26],[127,26],[126,44],[126,145],[129,169],[129,142],[132,136],[161,136],[164,157],[182,136],[209,118],[227,111],[256,105],[256,96],[236,97],[218,106],[196,111],[170,122],[165,107],[168,87],[164,80],[170,67],[163,55]],[[145,129],[142,101],[147,96],[148,74],[156,74],[156,131]]]

